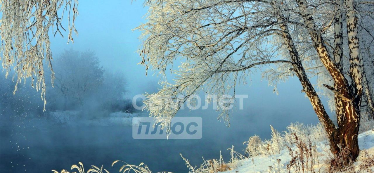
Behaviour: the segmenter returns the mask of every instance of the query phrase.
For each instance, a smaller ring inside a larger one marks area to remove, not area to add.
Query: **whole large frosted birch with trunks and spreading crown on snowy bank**
[[[162,125],[167,126],[193,94],[204,91],[220,98],[237,84],[246,84],[255,70],[262,70],[274,85],[296,76],[327,131],[331,152],[338,155],[347,148],[350,153],[344,160],[356,159],[361,100],[367,89],[362,66],[367,55],[360,53],[365,47],[359,40],[359,34],[367,33],[359,31],[368,27],[359,27],[358,22],[365,16],[373,23],[372,0],[155,0],[146,4],[148,21],[138,27],[143,40],[141,64],[162,76],[163,88],[147,94],[144,103]],[[169,70],[173,81],[166,78]],[[324,76],[326,83],[321,86],[333,95],[337,126],[321,102],[318,85],[310,82],[316,75]],[[229,112],[221,111],[220,117],[228,120]]]

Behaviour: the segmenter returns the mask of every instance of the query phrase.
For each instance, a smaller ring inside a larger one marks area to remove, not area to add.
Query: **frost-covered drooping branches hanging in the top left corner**
[[[52,70],[52,84],[54,79],[49,31],[62,36],[68,30],[68,42],[73,42],[78,0],[1,0],[0,6],[1,61],[6,76],[14,70],[13,94],[22,80],[31,78],[31,85],[41,91],[46,104],[44,63]],[[61,23],[64,17],[68,18],[66,29]]]

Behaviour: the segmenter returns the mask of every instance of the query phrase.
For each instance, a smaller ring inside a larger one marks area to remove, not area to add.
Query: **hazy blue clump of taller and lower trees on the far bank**
[[[47,109],[125,111],[126,78],[104,70],[92,51],[65,50],[54,62],[55,84],[47,90]]]

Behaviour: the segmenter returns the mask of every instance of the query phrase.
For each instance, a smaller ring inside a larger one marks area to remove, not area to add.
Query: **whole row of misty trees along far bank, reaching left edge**
[[[47,111],[85,110],[85,115],[96,113],[102,116],[102,111],[132,110],[131,101],[125,98],[127,81],[124,73],[104,70],[94,52],[64,51],[55,58],[54,68],[54,87],[48,85],[50,79],[46,79]],[[46,70],[45,73],[49,75],[51,72]],[[0,106],[3,110],[0,113],[41,115],[43,103],[37,101],[39,93],[22,82],[13,94],[15,83],[0,76]]]

